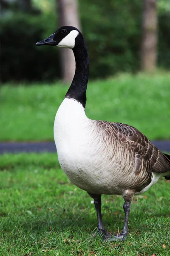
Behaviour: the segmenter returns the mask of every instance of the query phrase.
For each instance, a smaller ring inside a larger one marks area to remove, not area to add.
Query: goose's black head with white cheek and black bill
[[[73,49],[83,40],[82,33],[73,26],[62,26],[52,35],[38,42],[36,45],[51,45]]]

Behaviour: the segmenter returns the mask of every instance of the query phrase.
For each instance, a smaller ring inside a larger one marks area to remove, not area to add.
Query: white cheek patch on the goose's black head
[[[79,32],[77,30],[72,30],[65,38],[62,39],[62,41],[59,42],[57,46],[70,49],[74,48],[75,39],[78,34]]]

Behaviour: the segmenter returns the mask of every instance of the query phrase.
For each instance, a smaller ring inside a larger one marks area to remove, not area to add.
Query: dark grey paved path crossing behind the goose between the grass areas
[[[170,141],[153,141],[161,151],[170,152]],[[0,154],[19,152],[56,152],[54,142],[0,143]]]

